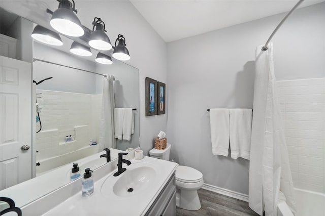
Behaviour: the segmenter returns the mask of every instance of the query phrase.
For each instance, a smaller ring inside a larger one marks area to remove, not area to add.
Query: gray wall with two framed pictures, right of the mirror
[[[107,13],[112,21],[111,28],[115,31],[111,35],[124,34],[131,55],[127,64],[138,68],[140,72],[140,147],[144,155],[149,155],[156,135],[160,130],[167,130],[167,114],[145,116],[145,78],[167,83],[167,44],[130,2],[106,1],[105,4],[117,10]]]

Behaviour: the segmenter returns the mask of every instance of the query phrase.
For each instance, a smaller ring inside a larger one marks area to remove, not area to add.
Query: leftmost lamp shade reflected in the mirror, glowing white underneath
[[[43,26],[37,25],[31,33],[31,37],[44,44],[62,46],[63,42],[60,35]]]

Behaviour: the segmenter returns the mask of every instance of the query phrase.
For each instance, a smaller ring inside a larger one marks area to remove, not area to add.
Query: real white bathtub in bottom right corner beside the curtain
[[[297,212],[293,214],[288,205],[278,203],[278,216],[324,216],[325,194],[295,188]]]

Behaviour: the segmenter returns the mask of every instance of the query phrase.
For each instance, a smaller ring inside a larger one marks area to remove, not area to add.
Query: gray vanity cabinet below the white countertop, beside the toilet
[[[145,215],[176,216],[175,172]]]

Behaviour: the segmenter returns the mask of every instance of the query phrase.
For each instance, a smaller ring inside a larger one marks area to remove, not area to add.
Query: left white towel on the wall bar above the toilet
[[[228,156],[229,109],[210,109],[212,154]]]

